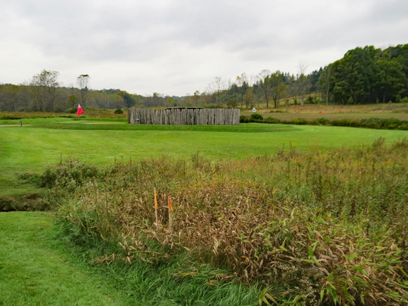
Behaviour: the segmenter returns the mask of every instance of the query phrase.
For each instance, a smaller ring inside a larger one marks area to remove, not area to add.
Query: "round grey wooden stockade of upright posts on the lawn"
[[[127,122],[133,125],[239,125],[235,108],[128,108]]]

